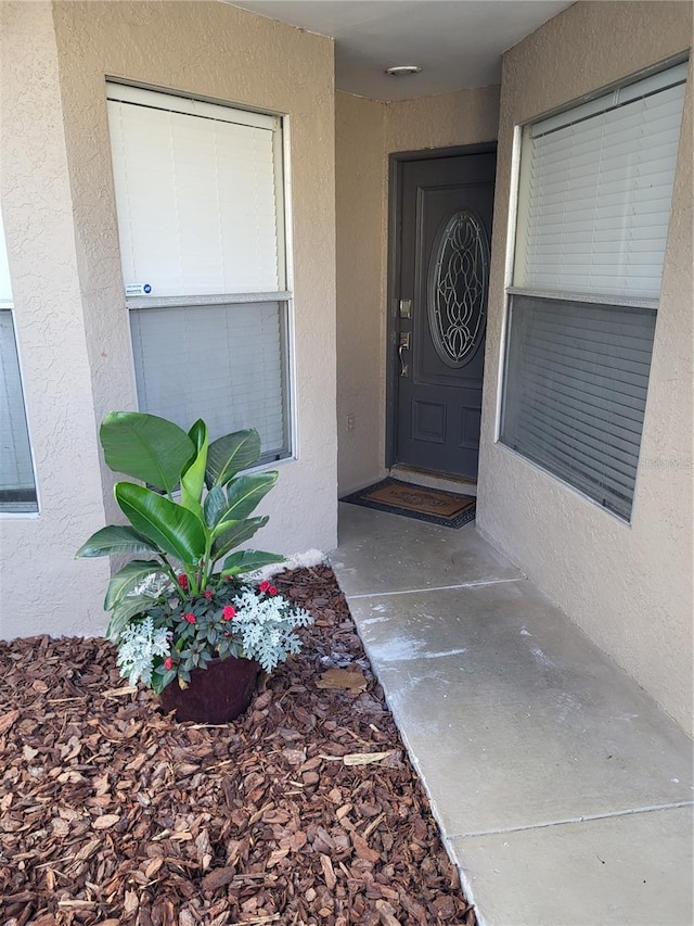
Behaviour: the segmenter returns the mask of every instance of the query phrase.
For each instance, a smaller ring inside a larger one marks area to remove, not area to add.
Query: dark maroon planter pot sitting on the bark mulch
[[[227,723],[242,714],[253,699],[260,665],[253,659],[214,659],[207,669],[193,669],[188,688],[174,681],[159,695],[177,720]]]

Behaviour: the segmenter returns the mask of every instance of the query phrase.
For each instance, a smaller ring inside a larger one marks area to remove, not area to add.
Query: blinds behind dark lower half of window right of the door
[[[501,440],[628,519],[656,313],[514,295]]]

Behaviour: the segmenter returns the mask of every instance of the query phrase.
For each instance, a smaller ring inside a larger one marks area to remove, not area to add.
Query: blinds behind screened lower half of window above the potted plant
[[[257,428],[264,459],[285,456],[284,319],[278,302],[130,310],[140,406],[210,441]]]

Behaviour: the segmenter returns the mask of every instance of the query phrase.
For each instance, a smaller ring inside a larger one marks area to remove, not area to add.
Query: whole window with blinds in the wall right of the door
[[[686,65],[526,126],[500,440],[629,520]]]

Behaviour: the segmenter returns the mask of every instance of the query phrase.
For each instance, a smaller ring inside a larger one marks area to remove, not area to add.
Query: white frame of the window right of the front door
[[[637,498],[637,482],[634,481],[633,492],[631,496],[631,507],[627,515],[619,513],[617,511],[611,510],[609,507],[606,507],[604,503],[601,503],[593,494],[588,494],[581,490],[580,486],[577,486],[575,483],[567,481],[562,475],[554,472],[551,468],[543,465],[541,461],[535,460],[524,453],[514,449],[509,446],[507,443],[503,440],[503,427],[504,427],[504,394],[506,386],[509,385],[509,356],[510,356],[510,346],[511,346],[511,338],[512,338],[512,310],[513,310],[513,302],[514,296],[536,296],[540,300],[548,299],[558,299],[558,300],[573,300],[582,303],[593,303],[600,304],[603,306],[613,306],[616,309],[620,307],[633,307],[640,309],[651,309],[653,313],[657,310],[659,304],[659,292],[657,297],[639,297],[634,295],[604,295],[596,292],[576,292],[576,291],[566,291],[566,290],[550,290],[550,289],[540,289],[536,290],[532,288],[525,288],[523,286],[514,286],[515,277],[517,275],[517,251],[518,251],[518,237],[519,237],[519,224],[523,218],[523,170],[526,166],[523,157],[523,149],[524,149],[524,138],[525,134],[528,131],[528,127],[537,124],[537,123],[550,123],[552,117],[556,117],[561,119],[563,114],[571,111],[576,111],[579,107],[582,109],[586,115],[590,114],[592,107],[599,109],[601,105],[601,101],[605,98],[606,94],[612,93],[613,99],[617,101],[620,99],[619,94],[621,94],[621,99],[630,99],[631,96],[635,96],[632,93],[631,88],[634,88],[634,85],[645,84],[645,81],[652,81],[657,86],[658,81],[660,81],[660,77],[666,72],[678,73],[677,69],[680,68],[681,80],[686,80],[686,71],[689,64],[689,56],[686,55],[677,55],[673,59],[670,59],[665,62],[660,62],[658,65],[654,65],[651,68],[647,68],[644,72],[641,72],[638,75],[633,75],[631,78],[626,78],[619,84],[613,85],[612,87],[604,88],[600,91],[595,91],[590,96],[583,97],[580,100],[574,101],[570,105],[562,106],[558,110],[552,111],[544,116],[540,116],[531,122],[517,125],[514,128],[514,137],[513,137],[513,145],[512,145],[512,175],[511,175],[511,191],[510,191],[510,210],[509,210],[509,223],[507,223],[507,231],[506,231],[506,261],[504,268],[504,313],[502,319],[502,331],[501,331],[501,345],[500,345],[500,365],[498,370],[498,380],[497,380],[497,406],[496,406],[496,422],[494,422],[494,441],[504,447],[504,449],[509,453],[514,454],[515,456],[519,456],[524,462],[536,468],[556,481],[563,483],[569,491],[574,492],[578,496],[587,499],[589,503],[596,505],[601,510],[605,511],[612,517],[615,517],[621,523],[629,525],[631,523],[632,515],[633,515],[633,504]],[[667,234],[666,234],[667,239]],[[667,241],[666,241],[667,246]],[[665,265],[665,257],[663,261],[663,266]],[[643,423],[645,423],[645,408],[643,413]],[[639,437],[639,447],[641,444],[642,432]],[[638,448],[639,448],[638,447]]]

